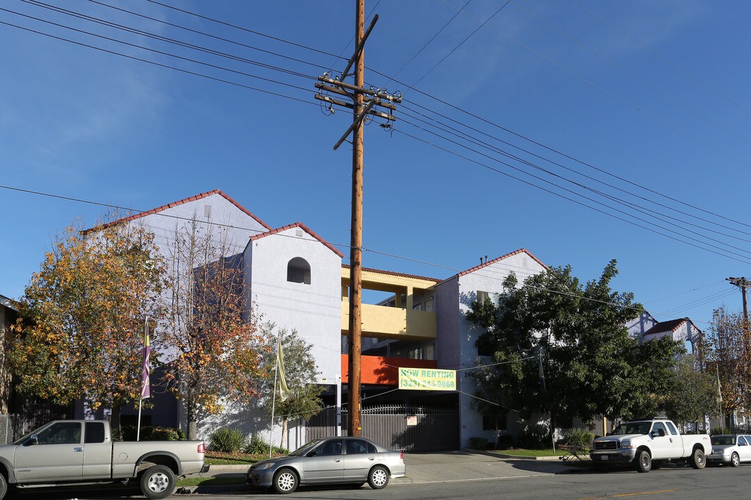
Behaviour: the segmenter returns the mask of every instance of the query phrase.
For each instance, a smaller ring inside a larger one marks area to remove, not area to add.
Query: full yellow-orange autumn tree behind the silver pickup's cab
[[[9,358],[18,389],[54,403],[119,409],[140,395],[143,323],[155,315],[163,261],[154,236],[110,214],[53,241],[20,299]]]

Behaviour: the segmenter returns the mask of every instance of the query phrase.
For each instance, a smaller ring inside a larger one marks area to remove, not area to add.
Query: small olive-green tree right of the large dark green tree
[[[678,357],[674,385],[665,398],[665,412],[675,422],[703,421],[717,410],[717,382],[703,373],[695,355]]]

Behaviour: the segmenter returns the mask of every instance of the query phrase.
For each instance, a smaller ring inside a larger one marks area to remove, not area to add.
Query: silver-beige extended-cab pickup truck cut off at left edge
[[[143,495],[164,499],[175,478],[207,472],[202,441],[113,442],[105,421],[53,421],[0,445],[0,500],[17,487],[137,480]]]

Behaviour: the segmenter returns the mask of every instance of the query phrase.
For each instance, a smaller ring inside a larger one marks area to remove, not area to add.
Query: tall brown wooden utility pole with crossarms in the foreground
[[[329,104],[333,112],[333,105],[352,109],[353,119],[341,139],[334,145],[334,150],[339,148],[352,133],[352,213],[351,213],[351,239],[350,239],[350,269],[349,269],[349,331],[348,331],[348,370],[347,381],[347,404],[348,419],[347,432],[349,436],[360,436],[360,352],[362,350],[362,246],[363,246],[363,121],[369,116],[385,118],[386,123],[382,127],[390,127],[394,116],[390,112],[380,112],[373,109],[375,106],[383,106],[394,110],[394,102],[400,103],[401,97],[390,96],[385,91],[364,88],[364,47],[370,31],[375,22],[376,15],[369,28],[365,31],[365,0],[356,0],[357,10],[354,24],[354,55],[350,58],[347,67],[342,71],[339,78],[332,79],[328,73],[318,76],[315,87],[319,92],[315,98]],[[345,78],[354,64],[354,85],[345,83]],[[349,97],[352,103],[338,100],[323,91]],[[368,97],[366,97],[368,96]]]

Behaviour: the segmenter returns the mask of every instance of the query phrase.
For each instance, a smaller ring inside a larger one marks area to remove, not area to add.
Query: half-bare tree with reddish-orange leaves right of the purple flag
[[[197,424],[258,395],[268,350],[256,331],[243,291],[242,255],[228,232],[195,218],[176,224],[167,248],[167,312],[158,344],[169,361],[164,382],[185,408],[188,438]]]

